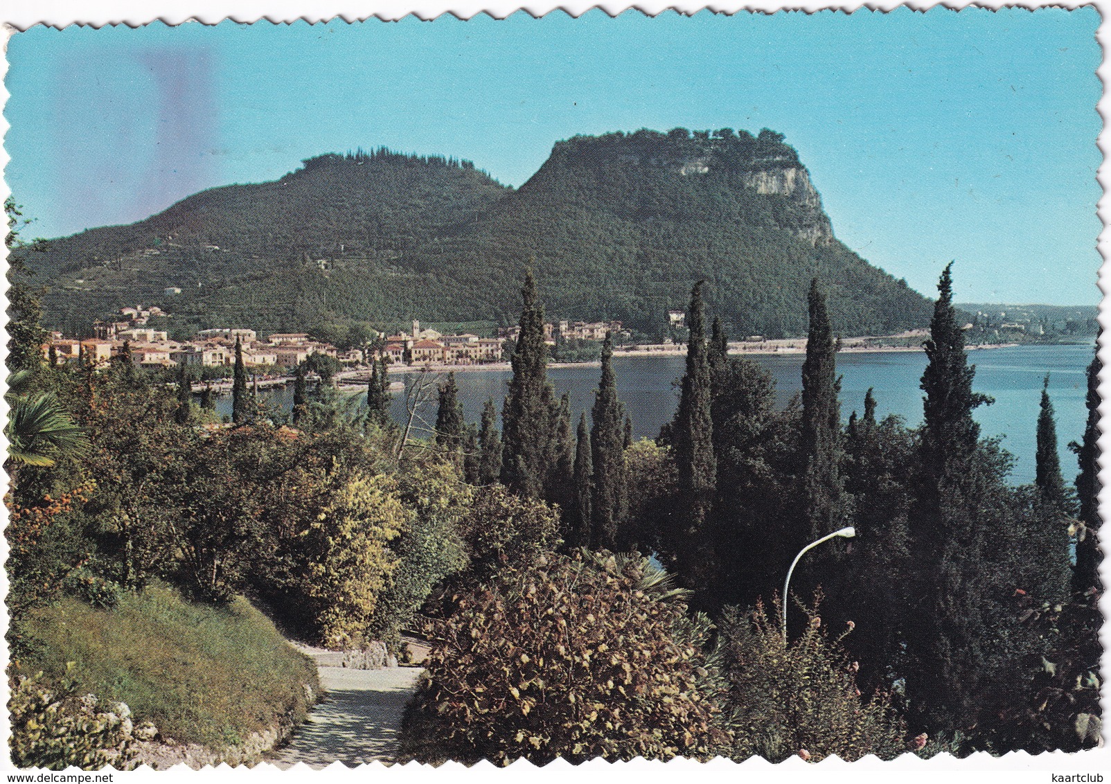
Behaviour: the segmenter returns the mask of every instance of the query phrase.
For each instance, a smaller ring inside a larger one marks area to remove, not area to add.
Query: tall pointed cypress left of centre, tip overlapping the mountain
[[[521,296],[521,333],[510,359],[513,378],[501,414],[501,482],[518,495],[539,499],[551,455],[552,386],[548,383],[544,309],[531,269],[526,272]]]

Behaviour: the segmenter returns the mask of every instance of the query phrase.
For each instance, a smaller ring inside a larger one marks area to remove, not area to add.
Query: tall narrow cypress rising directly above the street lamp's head
[[[802,363],[802,439],[807,542],[841,527],[841,409],[835,339],[818,279],[810,282],[810,332]],[[800,542],[802,546],[807,542]],[[829,551],[827,551],[829,552]]]

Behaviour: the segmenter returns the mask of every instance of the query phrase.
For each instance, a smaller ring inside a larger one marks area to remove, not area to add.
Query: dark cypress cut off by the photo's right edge
[[[1080,530],[1077,535],[1077,565],[1072,571],[1072,591],[1083,596],[1091,590],[1101,590],[1100,561],[1103,560],[1099,550],[1100,530],[1100,370],[1102,363],[1099,356],[1093,356],[1088,365],[1088,421],[1084,424],[1084,435],[1081,442],[1069,446],[1077,454],[1080,473],[1077,475],[1077,496],[1080,501]]]

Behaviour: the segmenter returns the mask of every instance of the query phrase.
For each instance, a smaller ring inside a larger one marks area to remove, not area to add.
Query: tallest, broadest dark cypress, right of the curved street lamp
[[[990,453],[980,450],[972,419],[990,399],[972,391],[975,369],[968,364],[952,304],[951,268],[938,284],[925,342],[925,415],[910,521],[917,602],[904,617],[912,722],[945,735],[970,731],[993,682],[1002,623],[994,601],[1005,575],[992,567],[991,553],[1007,535],[994,530],[993,519],[1000,505],[993,499],[1004,492],[1002,472],[990,471]]]

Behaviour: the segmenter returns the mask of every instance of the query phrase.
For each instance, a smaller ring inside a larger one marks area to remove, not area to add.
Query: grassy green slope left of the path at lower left
[[[236,745],[283,716],[303,717],[304,684],[318,690],[311,661],[243,599],[212,607],[151,586],[112,610],[67,599],[28,625],[40,644],[24,671],[60,675],[76,662],[83,687],[179,742]]]

